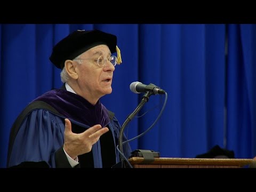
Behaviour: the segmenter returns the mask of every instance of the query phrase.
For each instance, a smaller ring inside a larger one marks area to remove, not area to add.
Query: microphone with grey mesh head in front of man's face
[[[152,92],[154,94],[164,94],[165,91],[160,89],[158,86],[150,83],[149,85],[142,84],[141,82],[133,82],[130,84],[130,90],[133,93]]]

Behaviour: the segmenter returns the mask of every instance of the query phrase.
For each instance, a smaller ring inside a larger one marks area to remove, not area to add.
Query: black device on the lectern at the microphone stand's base
[[[155,157],[159,157],[159,152],[155,152],[154,150],[142,150],[142,149],[136,149],[132,151],[131,156],[132,157],[143,157],[144,161],[142,163],[151,163],[155,161]]]

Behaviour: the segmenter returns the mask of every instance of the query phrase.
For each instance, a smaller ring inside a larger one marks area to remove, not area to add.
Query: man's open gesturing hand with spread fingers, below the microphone
[[[101,125],[98,124],[83,133],[73,133],[71,122],[66,118],[63,148],[71,158],[75,159],[78,155],[89,153],[92,150],[92,145],[106,132],[108,132],[108,127],[101,128]]]

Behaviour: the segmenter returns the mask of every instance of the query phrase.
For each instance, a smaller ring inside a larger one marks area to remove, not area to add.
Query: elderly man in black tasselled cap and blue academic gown
[[[120,161],[121,126],[100,98],[112,92],[122,62],[117,37],[74,31],[53,47],[50,60],[62,69],[63,86],[30,102],[16,119],[7,167],[112,167]],[[129,143],[123,151],[130,156]]]

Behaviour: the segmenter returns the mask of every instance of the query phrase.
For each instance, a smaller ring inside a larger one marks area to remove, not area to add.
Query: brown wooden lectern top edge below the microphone
[[[131,157],[134,168],[241,168],[253,163],[253,159],[235,158],[166,158],[157,157],[153,162],[145,162],[143,157]]]

